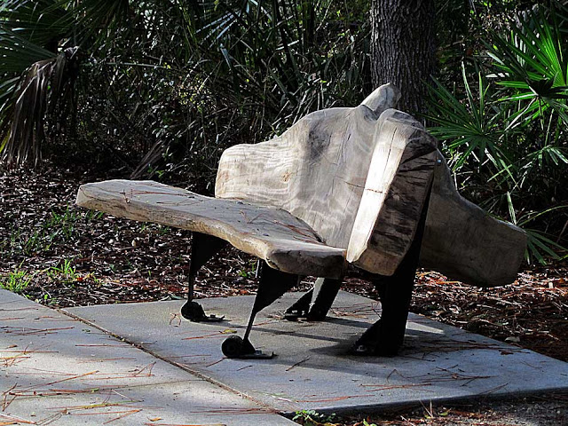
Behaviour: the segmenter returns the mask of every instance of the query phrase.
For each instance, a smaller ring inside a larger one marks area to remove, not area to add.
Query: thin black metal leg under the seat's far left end
[[[189,273],[187,279],[187,302],[181,308],[181,314],[185,319],[193,322],[222,321],[225,317],[217,317],[215,315],[206,315],[201,307],[193,300],[193,284],[197,272],[201,266],[206,264],[209,259],[215,256],[221,248],[224,248],[226,241],[205,233],[193,233],[192,255],[189,264]]]

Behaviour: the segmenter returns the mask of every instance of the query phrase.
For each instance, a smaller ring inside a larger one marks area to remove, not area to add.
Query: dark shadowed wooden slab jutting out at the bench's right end
[[[440,155],[422,241],[420,264],[450,280],[479,287],[509,284],[524,259],[526,234],[463,198]]]

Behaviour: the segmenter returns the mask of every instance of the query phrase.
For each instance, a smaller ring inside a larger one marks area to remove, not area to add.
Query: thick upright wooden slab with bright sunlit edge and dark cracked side
[[[420,122],[394,109],[379,118],[375,140],[347,260],[392,275],[414,239],[438,149]]]

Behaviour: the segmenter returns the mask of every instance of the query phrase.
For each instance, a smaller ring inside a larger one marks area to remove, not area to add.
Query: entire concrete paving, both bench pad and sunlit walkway
[[[296,424],[277,413],[355,412],[421,401],[568,390],[568,364],[411,315],[397,358],[346,355],[378,305],[340,293],[331,318],[295,323],[287,294],[251,340],[270,360],[225,359],[252,296],[206,299],[218,324],[179,317],[183,301],[57,312],[0,290],[0,425]],[[81,320],[78,320],[78,319]],[[118,338],[109,335],[112,333]]]

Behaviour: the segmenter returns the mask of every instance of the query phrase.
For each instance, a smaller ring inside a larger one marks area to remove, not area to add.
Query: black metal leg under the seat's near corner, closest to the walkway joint
[[[248,336],[255,322],[256,314],[269,304],[272,304],[290,288],[296,286],[300,277],[293,273],[272,269],[264,261],[261,261],[259,270],[260,282],[258,283],[255,304],[253,304],[252,312],[250,312],[245,335],[242,338],[238,335],[232,335],[225,340],[221,347],[223,353],[228,358],[270,359],[274,356],[272,352],[263,353],[262,351],[256,351],[255,347],[250,343]]]

